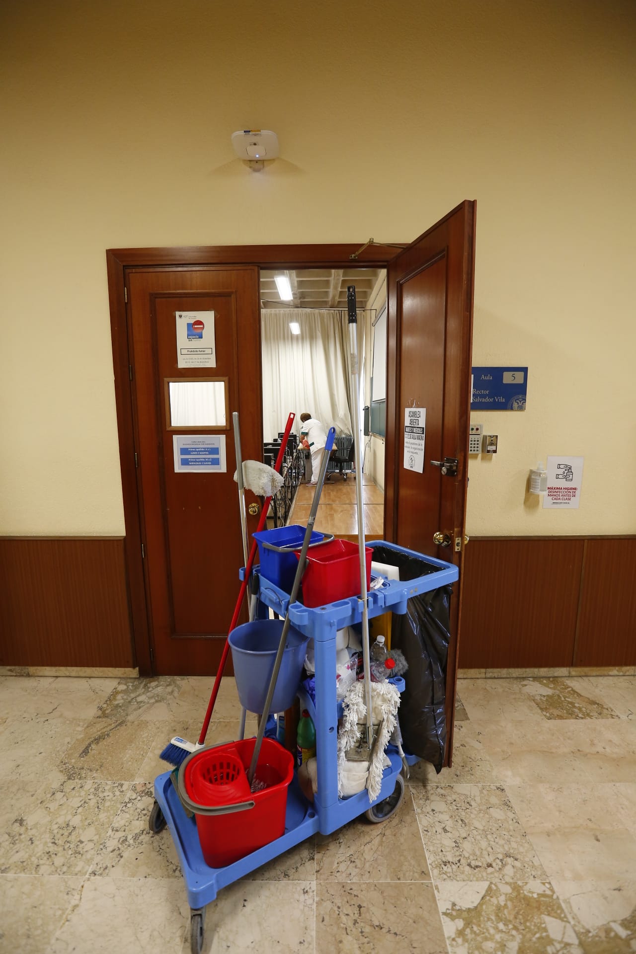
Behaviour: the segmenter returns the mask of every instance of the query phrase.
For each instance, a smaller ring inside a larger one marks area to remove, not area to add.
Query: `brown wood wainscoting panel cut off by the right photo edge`
[[[585,540],[573,666],[636,665],[636,537]]]

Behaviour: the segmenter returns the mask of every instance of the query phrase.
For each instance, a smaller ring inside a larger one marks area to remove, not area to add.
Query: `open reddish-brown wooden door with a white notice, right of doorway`
[[[444,764],[453,750],[462,608],[476,205],[462,202],[388,267],[384,534],[460,569],[451,603]],[[407,408],[426,409],[421,470],[417,458],[404,460]]]

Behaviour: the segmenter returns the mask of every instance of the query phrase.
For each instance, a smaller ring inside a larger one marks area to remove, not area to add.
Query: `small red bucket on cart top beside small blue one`
[[[366,589],[371,584],[373,550],[365,547]],[[297,553],[299,559],[299,554]],[[324,606],[360,592],[358,544],[350,540],[332,540],[315,550],[307,550],[308,565],[302,575],[302,602],[305,606]]]

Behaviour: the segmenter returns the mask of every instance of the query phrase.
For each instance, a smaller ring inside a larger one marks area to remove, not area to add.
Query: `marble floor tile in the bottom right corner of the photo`
[[[561,881],[554,889],[585,954],[636,950],[636,881]]]

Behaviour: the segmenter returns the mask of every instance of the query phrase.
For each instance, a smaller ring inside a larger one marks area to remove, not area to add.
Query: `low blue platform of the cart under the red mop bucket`
[[[170,772],[154,779],[154,798],[161,808],[173,837],[191,908],[204,907],[213,902],[221,888],[250,874],[267,861],[272,861],[318,831],[316,809],[300,791],[295,776],[287,792],[285,834],[258,848],[251,855],[235,861],[234,864],[228,864],[223,868],[211,868],[203,860],[195,819],[186,815]]]

